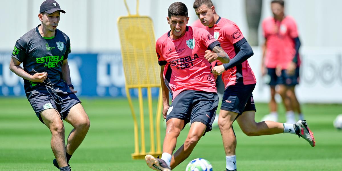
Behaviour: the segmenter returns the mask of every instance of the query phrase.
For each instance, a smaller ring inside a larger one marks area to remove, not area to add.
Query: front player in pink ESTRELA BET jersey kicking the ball
[[[172,3],[167,21],[171,30],[156,42],[167,126],[163,154],[160,159],[145,156],[148,167],[162,171],[170,171],[184,161],[199,139],[211,130],[219,100],[211,62],[229,62],[227,53],[207,30],[186,26],[189,17],[185,4]],[[172,93],[171,105],[168,90]],[[177,137],[188,122],[188,136],[173,154]]]

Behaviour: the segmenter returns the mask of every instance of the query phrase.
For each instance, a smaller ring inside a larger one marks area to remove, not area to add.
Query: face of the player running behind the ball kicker
[[[212,8],[209,8],[206,4],[203,4],[199,8],[195,9],[195,12],[204,26],[214,26],[214,10]]]

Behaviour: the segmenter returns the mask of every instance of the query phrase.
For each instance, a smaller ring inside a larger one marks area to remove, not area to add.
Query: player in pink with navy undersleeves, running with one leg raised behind
[[[221,47],[231,58],[229,63],[212,63],[213,74],[222,74],[225,91],[219,114],[219,128],[226,153],[226,171],[236,170],[236,137],[232,124],[237,120],[241,130],[248,136],[292,133],[303,137],[315,146],[313,133],[305,120],[295,124],[273,121],[255,122],[255,104],[252,92],[255,77],[247,59],[253,55],[252,48],[232,21],[221,18],[211,0],[195,0],[193,5],[198,18],[206,29],[221,43]]]

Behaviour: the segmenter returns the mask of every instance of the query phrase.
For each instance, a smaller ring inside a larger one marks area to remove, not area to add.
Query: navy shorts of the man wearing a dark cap
[[[81,101],[77,98],[77,96],[74,93],[57,93],[58,96],[60,96],[63,99],[63,103],[60,105],[58,103],[61,103],[61,100],[55,99],[48,93],[34,93],[30,94],[27,99],[30,102],[33,110],[36,112],[37,117],[41,122],[43,122],[43,119],[40,116],[40,112],[45,109],[54,108],[59,113],[62,111],[62,118],[65,120],[66,116],[69,113],[69,110],[71,107],[76,105],[77,103],[81,103]],[[44,122],[43,122],[44,123]]]

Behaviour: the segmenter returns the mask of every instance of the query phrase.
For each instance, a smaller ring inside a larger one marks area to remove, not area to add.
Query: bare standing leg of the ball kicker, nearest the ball
[[[202,135],[205,133],[207,126],[202,122],[194,122],[191,124],[188,136],[184,144],[176,150],[176,152],[172,155],[170,168],[174,169],[181,162],[183,162],[186,158],[189,157],[199,139],[201,139]]]

